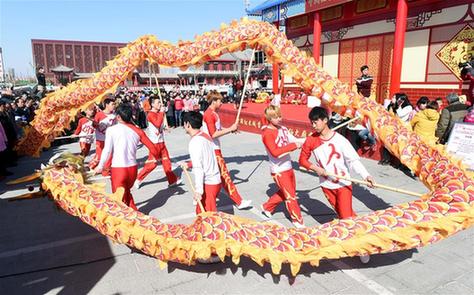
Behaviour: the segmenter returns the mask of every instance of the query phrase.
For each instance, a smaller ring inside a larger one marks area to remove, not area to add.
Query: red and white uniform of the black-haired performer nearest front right
[[[309,170],[312,165],[309,159],[312,155],[316,158],[316,165],[329,173],[350,177],[349,170],[352,170],[363,179],[370,176],[350,142],[337,132],[333,132],[328,140],[322,139],[317,134],[307,137],[301,149],[300,166]],[[355,216],[352,210],[350,181],[320,176],[319,182],[339,218]]]

